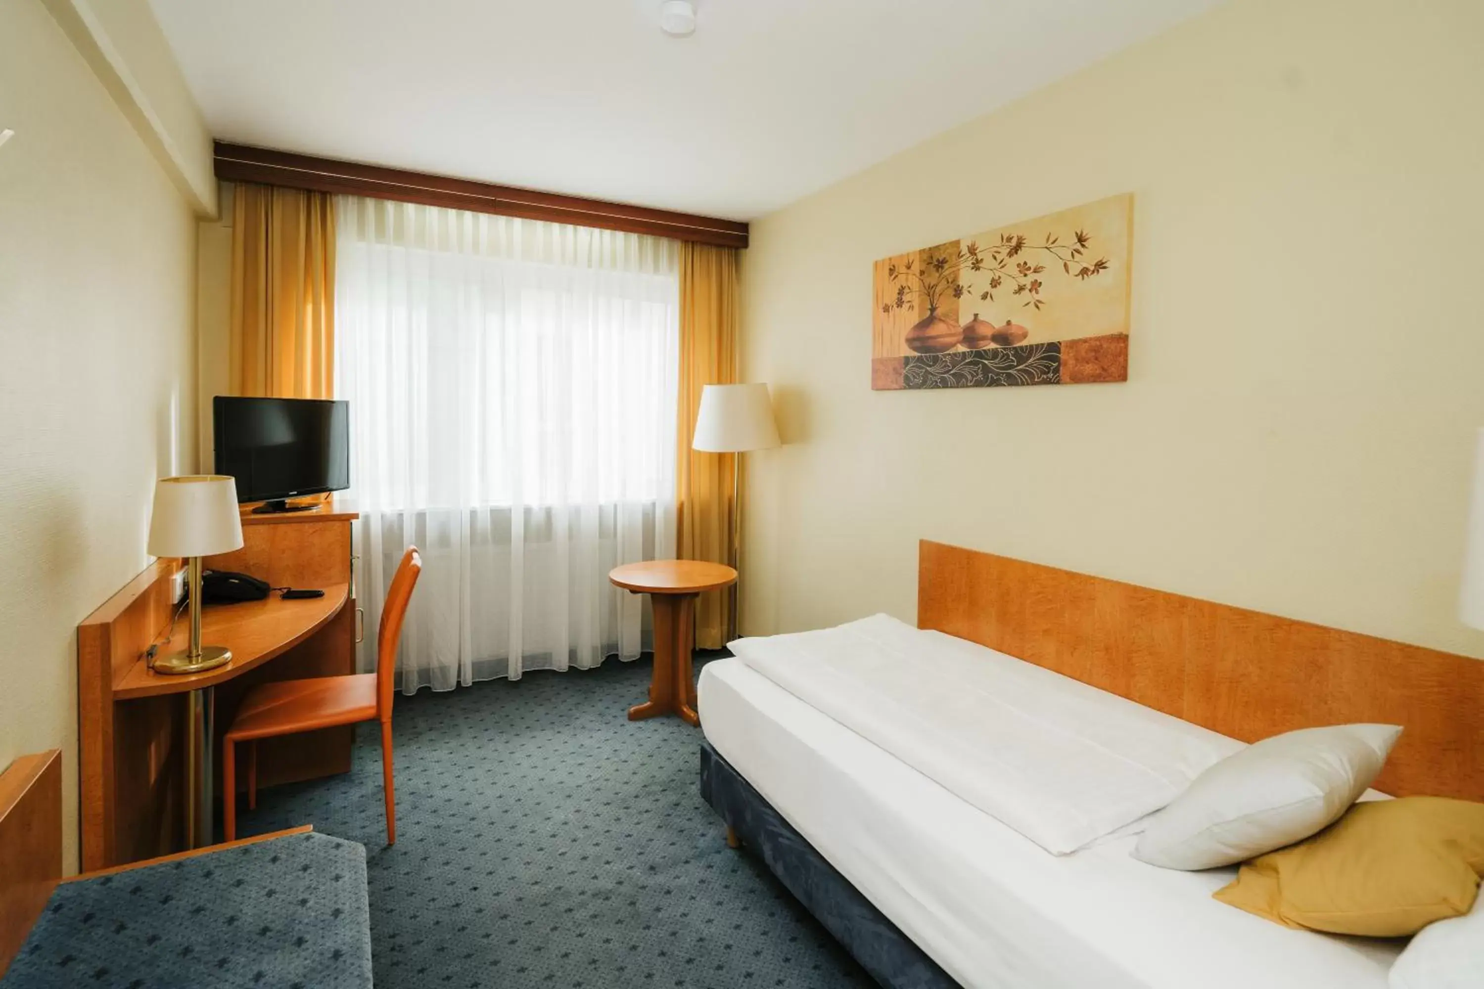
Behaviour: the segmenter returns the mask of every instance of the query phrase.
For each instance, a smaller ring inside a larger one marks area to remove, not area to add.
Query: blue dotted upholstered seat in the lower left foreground
[[[312,832],[64,882],[3,989],[371,985],[365,848]]]

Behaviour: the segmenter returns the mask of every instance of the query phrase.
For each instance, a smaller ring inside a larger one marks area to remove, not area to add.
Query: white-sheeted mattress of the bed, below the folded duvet
[[[699,684],[711,744],[968,989],[1385,989],[1399,943],[1217,903],[1235,869],[1172,872],[1134,836],[1052,856],[738,660]]]

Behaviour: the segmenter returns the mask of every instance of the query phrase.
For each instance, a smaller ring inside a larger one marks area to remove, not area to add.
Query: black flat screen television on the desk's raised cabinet
[[[217,473],[254,512],[303,512],[288,498],[350,486],[350,406],[329,399],[212,399]]]

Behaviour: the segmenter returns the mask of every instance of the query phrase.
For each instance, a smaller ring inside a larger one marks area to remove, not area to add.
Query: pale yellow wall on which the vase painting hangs
[[[754,224],[745,629],[911,620],[930,538],[1484,655],[1481,92],[1477,0],[1235,0]],[[1122,191],[1126,384],[870,390],[876,258]]]

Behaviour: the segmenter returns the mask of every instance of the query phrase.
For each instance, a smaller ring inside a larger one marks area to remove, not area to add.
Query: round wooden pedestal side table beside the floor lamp
[[[726,587],[738,572],[702,560],[646,560],[608,571],[608,580],[635,595],[649,595],[654,608],[654,669],[650,698],[629,707],[629,721],[680,715],[699,725],[692,646],[696,641],[696,598]]]

